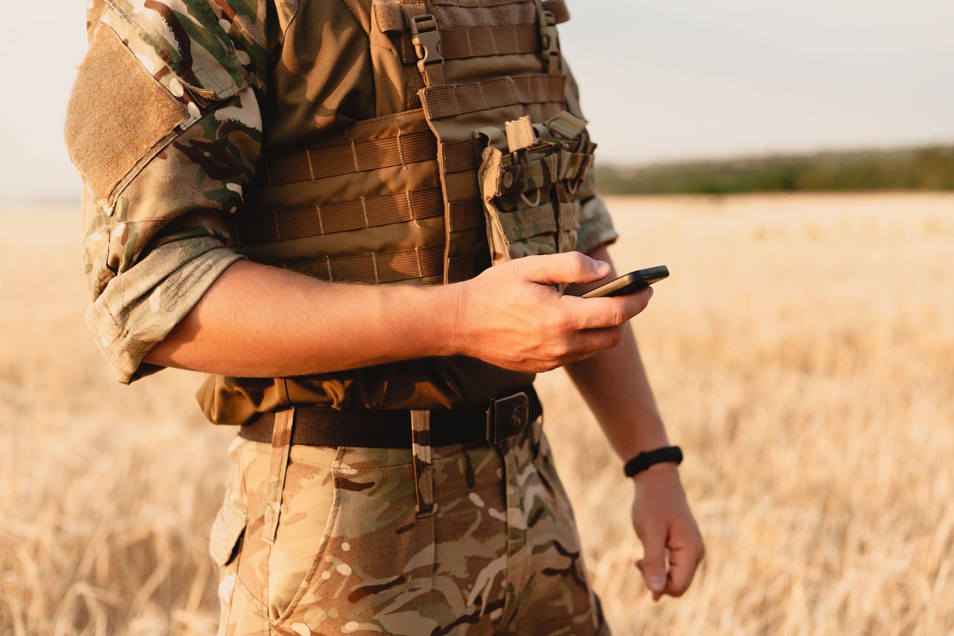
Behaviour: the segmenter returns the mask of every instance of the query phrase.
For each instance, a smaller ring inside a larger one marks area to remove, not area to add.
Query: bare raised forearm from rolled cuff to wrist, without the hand
[[[238,261],[145,361],[247,378],[452,355],[456,290],[342,285]]]

